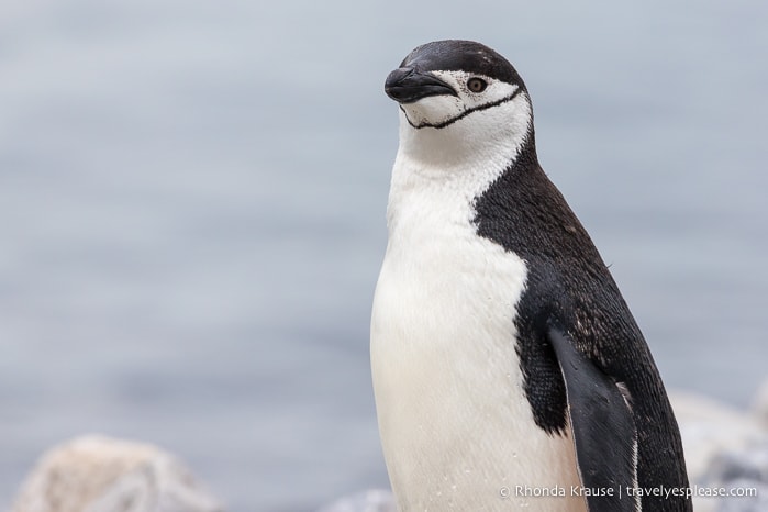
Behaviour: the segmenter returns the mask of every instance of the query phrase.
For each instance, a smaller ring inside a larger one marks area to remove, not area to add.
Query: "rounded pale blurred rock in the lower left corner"
[[[222,512],[170,454],[144,443],[88,435],[37,461],[11,512]]]

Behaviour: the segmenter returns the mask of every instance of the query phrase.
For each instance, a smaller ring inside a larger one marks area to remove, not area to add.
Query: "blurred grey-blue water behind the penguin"
[[[0,507],[86,432],[232,511],[387,485],[368,367],[416,44],[482,41],[670,388],[768,374],[768,3],[0,7]]]

